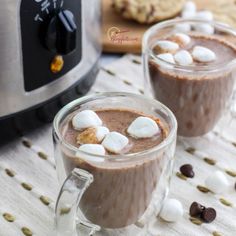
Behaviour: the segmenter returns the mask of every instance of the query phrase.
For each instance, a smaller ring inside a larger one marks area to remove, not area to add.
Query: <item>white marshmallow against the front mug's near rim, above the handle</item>
[[[106,150],[101,144],[83,144],[79,147],[80,151],[86,152],[86,153],[81,153],[77,152],[75,155],[78,158],[84,159],[86,161],[99,161],[102,162],[102,158],[97,158],[93,155],[101,155],[104,156],[106,154]],[[91,154],[91,155],[89,155]]]

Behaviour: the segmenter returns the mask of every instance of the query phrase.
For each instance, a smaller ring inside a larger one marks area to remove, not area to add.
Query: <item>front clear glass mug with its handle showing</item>
[[[65,118],[84,109],[132,109],[161,119],[168,131],[152,149],[127,155],[96,156],[86,161],[61,134]],[[62,188],[56,205],[58,236],[147,235],[147,222],[160,211],[168,193],[176,146],[177,122],[164,105],[144,96],[103,93],[66,105],[53,124],[57,174]]]

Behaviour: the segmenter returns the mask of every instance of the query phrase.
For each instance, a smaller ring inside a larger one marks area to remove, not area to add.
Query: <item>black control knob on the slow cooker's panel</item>
[[[69,10],[60,11],[49,22],[45,45],[55,53],[66,55],[76,49],[77,26],[74,15]]]

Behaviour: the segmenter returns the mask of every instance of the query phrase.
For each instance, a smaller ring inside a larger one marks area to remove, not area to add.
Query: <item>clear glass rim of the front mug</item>
[[[73,146],[72,144],[68,143],[61,135],[61,132],[59,131],[59,125],[60,125],[60,121],[62,120],[64,114],[66,112],[68,112],[69,110],[73,109],[74,107],[78,106],[78,105],[82,105],[85,104],[86,102],[92,101],[92,100],[97,100],[97,99],[102,99],[102,98],[107,98],[107,97],[132,97],[132,98],[141,98],[142,100],[145,100],[145,102],[147,103],[154,103],[156,104],[159,109],[164,109],[167,114],[168,117],[170,118],[170,122],[171,125],[173,126],[172,128],[170,128],[170,132],[168,133],[168,136],[158,145],[156,145],[155,147],[149,148],[147,150],[141,151],[141,152],[135,152],[135,153],[130,153],[130,154],[113,154],[113,155],[96,155],[96,154],[91,154],[88,152],[84,152],[78,149],[78,147]],[[87,95],[84,96],[82,98],[78,98],[70,103],[68,103],[66,106],[64,106],[55,116],[54,120],[53,120],[53,134],[56,134],[57,139],[69,150],[74,151],[75,153],[81,153],[81,154],[85,154],[85,155],[89,155],[95,158],[102,158],[103,160],[105,159],[109,159],[112,161],[130,161],[133,160],[135,158],[137,158],[137,156],[143,156],[143,155],[147,155],[147,154],[151,154],[154,152],[157,152],[163,148],[165,148],[166,146],[168,146],[169,144],[171,144],[171,142],[173,140],[176,139],[177,137],[177,120],[175,118],[175,115],[173,114],[173,112],[164,104],[162,104],[161,102],[155,100],[155,99],[150,99],[147,98],[144,95],[138,95],[138,94],[133,94],[133,93],[126,93],[126,92],[102,92],[102,93],[98,93],[98,94],[92,94],[92,95]],[[109,158],[110,157],[110,158]],[[94,160],[96,161],[96,159]]]

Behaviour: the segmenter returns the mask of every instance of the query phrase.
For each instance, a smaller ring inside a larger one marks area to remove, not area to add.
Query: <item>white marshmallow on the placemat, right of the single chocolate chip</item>
[[[223,193],[229,188],[229,182],[225,174],[219,170],[207,177],[205,185],[214,193]]]

